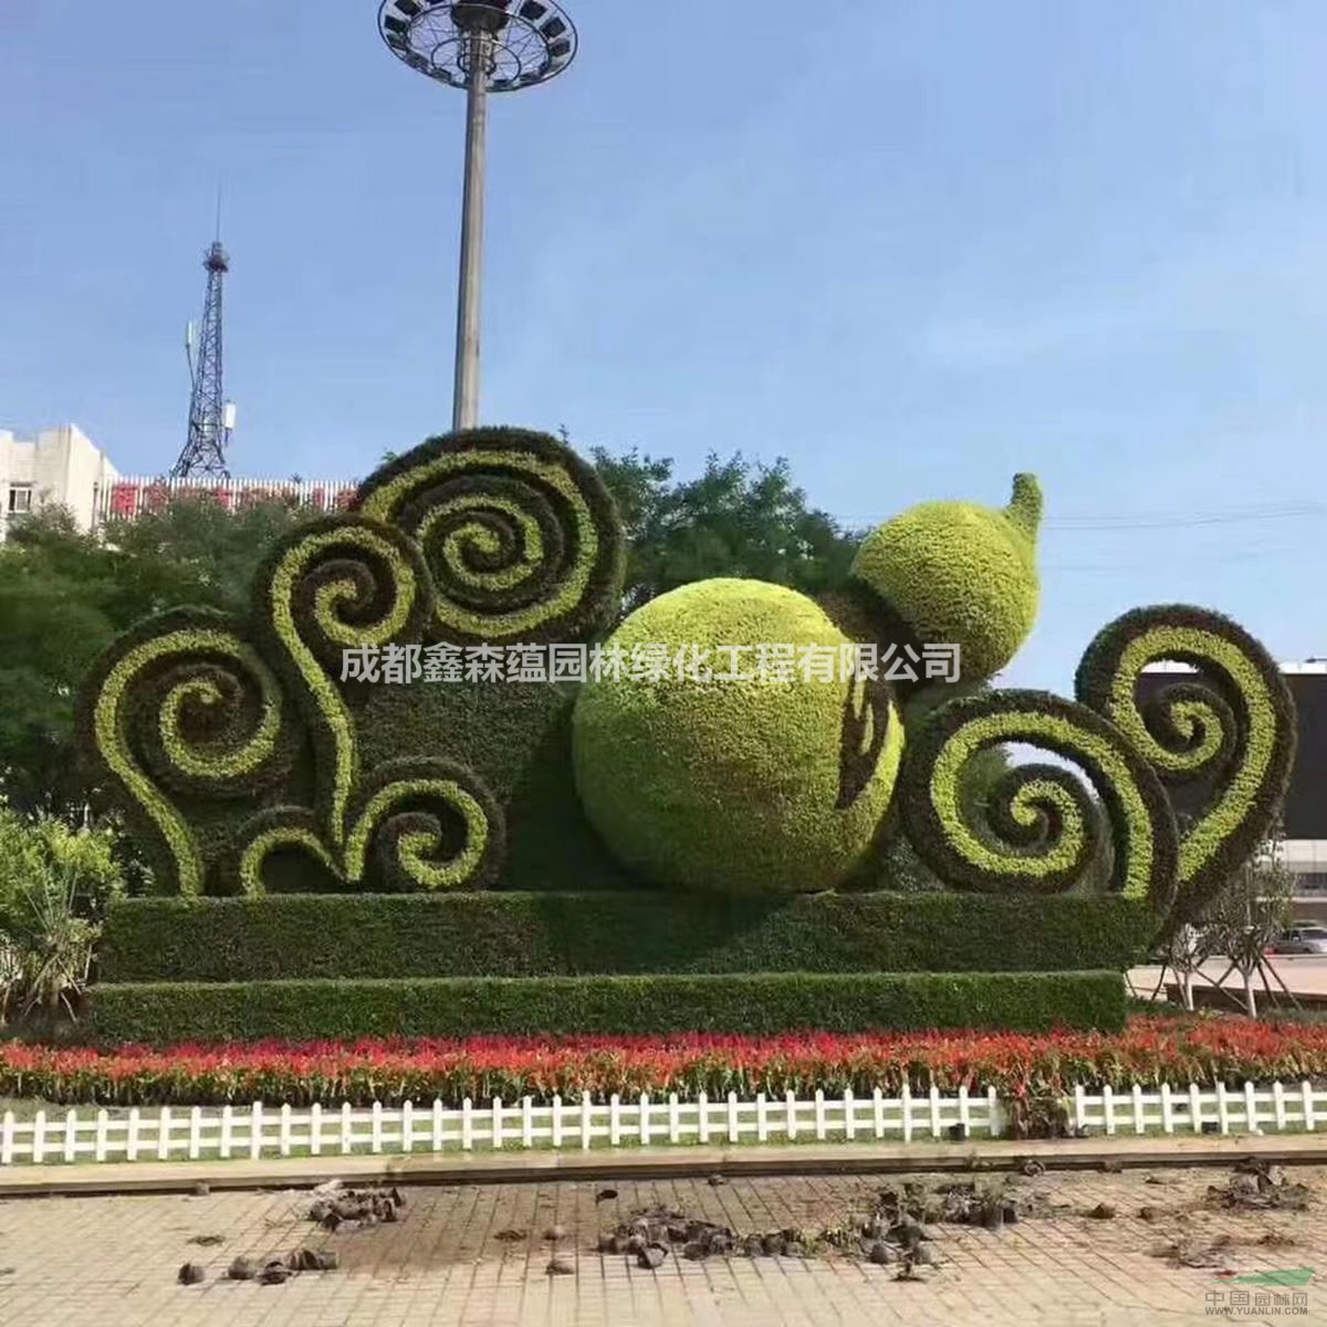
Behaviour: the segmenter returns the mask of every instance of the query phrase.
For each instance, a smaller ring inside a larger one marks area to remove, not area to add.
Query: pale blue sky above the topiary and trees
[[[817,8],[575,0],[494,107],[486,422],[786,455],[856,524],[1035,470],[1019,683],[1141,602],[1327,654],[1327,7]],[[0,7],[0,425],[170,464],[220,176],[236,472],[443,430],[463,101],[376,15]]]

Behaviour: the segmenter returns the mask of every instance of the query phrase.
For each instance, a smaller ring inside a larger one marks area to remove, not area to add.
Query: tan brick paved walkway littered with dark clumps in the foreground
[[[657,1204],[739,1233],[840,1225],[865,1209],[885,1182],[878,1176],[736,1177],[718,1186],[618,1180],[600,1202],[596,1182],[425,1188],[407,1190],[399,1223],[336,1234],[304,1220],[308,1196],[291,1192],[8,1200],[0,1202],[0,1324],[1132,1327],[1210,1320],[1226,1304],[1247,1304],[1257,1320],[1259,1295],[1269,1310],[1282,1295],[1289,1310],[1292,1294],[1303,1296],[1298,1311],[1278,1316],[1327,1323],[1327,1223],[1316,1200],[1300,1213],[1233,1213],[1206,1198],[1229,1176],[1194,1168],[1157,1172],[1160,1182],[1141,1170],[1019,1178],[1020,1194],[1063,1206],[998,1234],[937,1227],[941,1262],[921,1282],[843,1257],[670,1257],[652,1273],[591,1251],[600,1231]],[[1296,1166],[1291,1177],[1327,1196],[1327,1166]],[[1097,1204],[1116,1216],[1088,1217]],[[1152,1220],[1140,1216],[1144,1206]],[[552,1225],[567,1231],[559,1247],[575,1274],[545,1271],[543,1233]],[[190,1242],[200,1235],[219,1242]],[[1216,1265],[1156,1255],[1178,1239],[1216,1243]],[[301,1245],[334,1249],[340,1269],[284,1286],[219,1279],[236,1255],[265,1261]],[[176,1285],[186,1259],[206,1267],[203,1285]],[[1323,1278],[1291,1291],[1217,1275],[1294,1267],[1322,1269]]]

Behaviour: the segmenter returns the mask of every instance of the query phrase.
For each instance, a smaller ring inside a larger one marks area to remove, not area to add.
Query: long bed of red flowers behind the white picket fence
[[[405,1100],[512,1101],[589,1092],[711,1097],[736,1092],[805,1097],[997,1088],[1019,1100],[1075,1084],[1169,1082],[1212,1087],[1245,1080],[1327,1078],[1327,1026],[1245,1019],[1140,1016],[1119,1034],[921,1032],[803,1034],[774,1038],[682,1035],[475,1038],[295,1046],[122,1047],[106,1054],[0,1046],[0,1096],[105,1105],[321,1101],[393,1105]]]

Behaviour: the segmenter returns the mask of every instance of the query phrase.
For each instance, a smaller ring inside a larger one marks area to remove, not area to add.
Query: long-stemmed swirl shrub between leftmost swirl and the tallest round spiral
[[[318,813],[328,841],[340,847],[360,778],[354,722],[337,681],[342,652],[418,641],[433,610],[427,568],[401,531],[333,516],[275,548],[255,600],[257,636],[313,734]]]

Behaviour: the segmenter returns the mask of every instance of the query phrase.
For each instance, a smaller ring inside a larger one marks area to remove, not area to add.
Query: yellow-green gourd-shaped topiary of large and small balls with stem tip
[[[902,617],[922,641],[958,645],[966,677],[989,677],[1036,614],[1040,508],[1036,480],[1018,475],[1005,511],[928,503],[881,525],[853,565],[873,592],[859,630],[750,580],[698,581],[637,609],[606,649],[648,652],[658,667],[587,683],[573,726],[581,804],[613,853],[664,885],[841,885],[877,839],[904,750],[884,669],[855,678],[840,666],[853,634],[888,640]],[[762,666],[780,646],[799,657]],[[808,650],[833,657],[832,677],[807,666]],[[683,656],[711,675],[679,675]],[[718,681],[739,658],[752,675]]]

